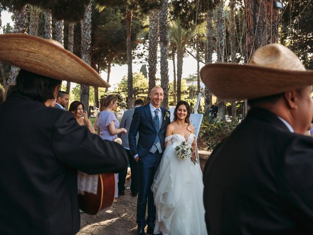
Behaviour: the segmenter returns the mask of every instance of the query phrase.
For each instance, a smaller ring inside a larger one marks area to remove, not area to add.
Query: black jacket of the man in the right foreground
[[[209,235],[313,232],[313,138],[252,108],[203,172]]]

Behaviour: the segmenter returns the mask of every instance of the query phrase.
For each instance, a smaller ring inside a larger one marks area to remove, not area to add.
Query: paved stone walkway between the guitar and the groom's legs
[[[126,183],[125,196],[96,215],[81,213],[81,230],[77,235],[135,235],[137,232],[137,197],[132,197],[130,181]]]

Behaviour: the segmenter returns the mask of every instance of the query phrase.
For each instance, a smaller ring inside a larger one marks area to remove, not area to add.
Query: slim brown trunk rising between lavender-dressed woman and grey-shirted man
[[[127,109],[131,109],[133,107],[133,58],[132,58],[132,39],[131,39],[131,29],[132,29],[132,17],[133,12],[130,9],[126,10],[126,51],[127,51]]]

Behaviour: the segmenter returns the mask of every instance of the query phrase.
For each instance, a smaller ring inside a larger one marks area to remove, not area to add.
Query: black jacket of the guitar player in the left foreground
[[[11,94],[0,105],[0,234],[76,234],[76,170],[118,172],[127,159],[71,113]]]

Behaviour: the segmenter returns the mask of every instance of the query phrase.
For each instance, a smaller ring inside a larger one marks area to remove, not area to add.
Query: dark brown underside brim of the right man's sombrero
[[[253,99],[313,85],[313,71],[216,63],[202,67],[203,83],[224,101]]]

